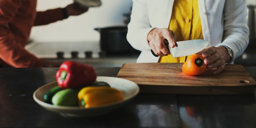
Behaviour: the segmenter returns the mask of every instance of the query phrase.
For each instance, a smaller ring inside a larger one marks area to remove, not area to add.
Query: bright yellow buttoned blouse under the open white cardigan
[[[198,10],[198,0],[174,0],[173,12],[169,29],[176,36],[176,41],[203,39],[201,20]],[[160,63],[184,63],[186,56],[162,56]]]

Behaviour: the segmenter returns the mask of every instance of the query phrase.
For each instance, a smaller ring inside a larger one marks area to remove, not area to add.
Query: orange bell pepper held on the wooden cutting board
[[[206,71],[206,65],[203,61],[204,57],[202,55],[193,54],[188,56],[182,65],[182,72],[189,76],[203,74]]]

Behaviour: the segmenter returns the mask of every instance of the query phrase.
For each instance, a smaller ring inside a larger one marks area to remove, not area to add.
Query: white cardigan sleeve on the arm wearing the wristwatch
[[[225,3],[223,42],[217,47],[229,47],[233,52],[233,60],[243,54],[249,43],[246,7],[243,0],[227,0]]]

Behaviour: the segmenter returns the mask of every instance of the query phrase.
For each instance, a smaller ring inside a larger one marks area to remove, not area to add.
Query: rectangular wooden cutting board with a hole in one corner
[[[226,65],[226,69],[200,76],[182,72],[183,63],[125,63],[118,78],[139,85],[140,93],[155,94],[252,94],[256,82],[242,65]]]

